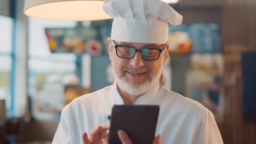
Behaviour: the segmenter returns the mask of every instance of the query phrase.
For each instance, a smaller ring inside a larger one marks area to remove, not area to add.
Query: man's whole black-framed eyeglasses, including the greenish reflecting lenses
[[[161,52],[165,49],[167,43],[161,49],[158,48],[143,48],[136,49],[132,46],[116,45],[113,40],[111,40],[112,45],[115,47],[116,55],[120,58],[131,59],[135,56],[137,52],[141,54],[141,59],[144,60],[157,60],[160,57]]]

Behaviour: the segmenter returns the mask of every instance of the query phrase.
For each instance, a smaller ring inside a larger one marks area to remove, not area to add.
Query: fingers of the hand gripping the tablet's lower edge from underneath
[[[130,138],[129,138],[128,135],[125,133],[125,131],[119,130],[119,131],[118,131],[118,137],[120,138],[122,144],[132,144]],[[109,144],[109,143],[108,143],[108,139],[107,139],[107,138],[102,139],[102,144]],[[158,135],[156,135],[156,136],[154,137],[153,144],[161,144],[161,141],[160,141],[160,134],[158,134]]]

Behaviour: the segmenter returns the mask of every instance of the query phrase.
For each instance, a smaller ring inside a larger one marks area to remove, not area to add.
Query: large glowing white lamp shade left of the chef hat
[[[112,19],[102,9],[104,0],[25,0],[24,14],[48,20]]]

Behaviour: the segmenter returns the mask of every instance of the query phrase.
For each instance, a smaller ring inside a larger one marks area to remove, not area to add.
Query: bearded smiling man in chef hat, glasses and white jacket
[[[179,25],[182,16],[161,0],[105,0],[103,10],[114,17],[108,53],[115,82],[66,105],[53,144],[108,144],[113,105],[160,105],[153,144],[223,144],[211,111],[163,86],[168,23]],[[118,136],[132,144],[125,131]]]

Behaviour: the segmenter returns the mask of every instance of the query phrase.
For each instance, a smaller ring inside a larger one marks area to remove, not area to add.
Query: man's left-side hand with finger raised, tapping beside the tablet
[[[110,124],[101,124],[90,131],[90,139],[85,132],[82,134],[84,144],[102,144],[103,138],[108,138]]]

